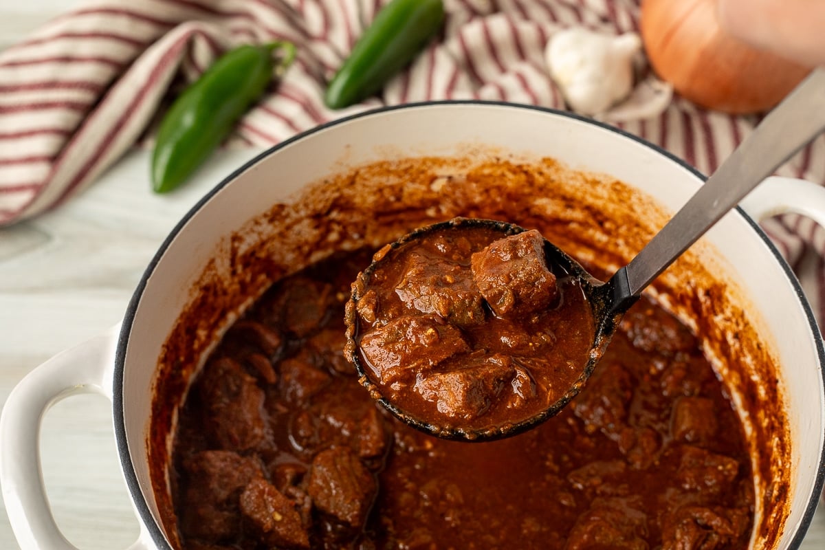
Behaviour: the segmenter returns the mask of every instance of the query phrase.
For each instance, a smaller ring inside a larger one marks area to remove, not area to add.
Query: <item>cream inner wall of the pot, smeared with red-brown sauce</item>
[[[469,171],[485,183],[465,185]],[[181,402],[222,331],[274,280],[454,215],[541,227],[611,272],[700,184],[688,167],[614,129],[474,103],[343,120],[243,167],[172,232],[124,323],[115,431],[158,548],[177,548],[174,526],[160,519],[172,517],[170,401]],[[651,293],[700,334],[746,426],[757,477],[752,548],[792,548],[822,488],[825,435],[821,345],[799,285],[733,212]]]

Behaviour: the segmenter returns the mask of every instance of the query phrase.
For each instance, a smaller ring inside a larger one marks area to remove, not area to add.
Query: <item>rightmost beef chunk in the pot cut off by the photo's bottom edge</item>
[[[662,521],[662,550],[737,548],[749,522],[747,510],[681,506]]]

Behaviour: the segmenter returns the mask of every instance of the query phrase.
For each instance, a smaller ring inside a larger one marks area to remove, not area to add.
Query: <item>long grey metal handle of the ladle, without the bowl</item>
[[[610,280],[614,311],[639,297],[728,210],[825,129],[825,68],[816,68],[761,121],[662,230]]]

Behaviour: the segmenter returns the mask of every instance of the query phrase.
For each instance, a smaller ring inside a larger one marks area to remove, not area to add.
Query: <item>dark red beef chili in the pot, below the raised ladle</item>
[[[370,252],[281,280],[197,376],[172,449],[183,548],[745,548],[742,426],[691,332],[642,299],[559,416],[440,440],[370,398],[343,309]]]

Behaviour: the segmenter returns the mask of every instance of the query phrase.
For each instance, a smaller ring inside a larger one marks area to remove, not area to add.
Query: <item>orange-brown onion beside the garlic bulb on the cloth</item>
[[[642,0],[650,64],[681,96],[734,115],[770,110],[811,71],[719,26],[716,0]]]

